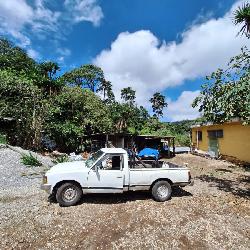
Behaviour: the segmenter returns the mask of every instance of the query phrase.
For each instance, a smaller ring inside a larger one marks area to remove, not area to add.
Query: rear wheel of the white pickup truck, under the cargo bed
[[[154,200],[166,201],[171,197],[172,187],[168,181],[157,181],[151,191]]]

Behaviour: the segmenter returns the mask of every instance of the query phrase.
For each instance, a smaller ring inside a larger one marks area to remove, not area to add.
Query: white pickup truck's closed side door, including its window
[[[105,154],[88,173],[88,193],[123,192],[123,155]]]

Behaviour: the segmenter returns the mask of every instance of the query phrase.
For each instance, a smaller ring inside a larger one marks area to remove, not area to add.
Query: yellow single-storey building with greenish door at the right
[[[193,126],[192,147],[211,156],[229,156],[250,163],[250,125],[231,121]]]

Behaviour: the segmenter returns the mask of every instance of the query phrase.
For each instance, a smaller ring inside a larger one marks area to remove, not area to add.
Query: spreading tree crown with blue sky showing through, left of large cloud
[[[65,73],[62,79],[70,85],[87,87],[95,92],[104,81],[104,74],[101,68],[87,64]]]

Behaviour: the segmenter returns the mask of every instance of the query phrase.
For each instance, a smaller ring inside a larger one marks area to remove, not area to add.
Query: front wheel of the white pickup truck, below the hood
[[[76,205],[82,198],[82,188],[74,183],[63,183],[56,191],[56,200],[62,207]]]

